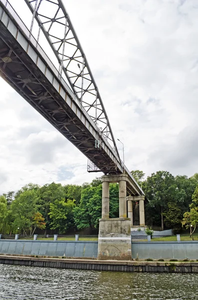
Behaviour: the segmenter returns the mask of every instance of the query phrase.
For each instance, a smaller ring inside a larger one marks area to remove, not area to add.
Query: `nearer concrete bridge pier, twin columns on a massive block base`
[[[127,174],[102,176],[102,218],[98,259],[131,260],[131,226],[127,217]],[[119,182],[119,218],[109,218],[109,183]]]

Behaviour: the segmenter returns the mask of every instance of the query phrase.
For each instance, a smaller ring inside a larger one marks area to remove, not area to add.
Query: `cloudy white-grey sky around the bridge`
[[[24,1],[10,3],[29,25]],[[198,172],[198,0],[63,3],[128,169]],[[87,158],[0,78],[0,194],[100,175],[88,173]]]

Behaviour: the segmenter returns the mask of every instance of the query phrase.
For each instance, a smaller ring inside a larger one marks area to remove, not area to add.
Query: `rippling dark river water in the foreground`
[[[198,274],[130,273],[0,264],[0,300],[198,299]]]

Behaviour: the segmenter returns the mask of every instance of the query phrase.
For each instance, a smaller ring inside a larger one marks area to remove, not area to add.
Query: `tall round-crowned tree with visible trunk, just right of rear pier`
[[[155,206],[161,214],[161,228],[164,230],[164,210],[168,207],[168,202],[174,200],[176,195],[174,176],[168,171],[157,171],[147,177],[144,188],[150,207]]]

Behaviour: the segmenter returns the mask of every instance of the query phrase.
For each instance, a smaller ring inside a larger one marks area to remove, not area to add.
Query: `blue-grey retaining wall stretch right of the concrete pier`
[[[198,259],[198,240],[132,242],[132,258]]]

